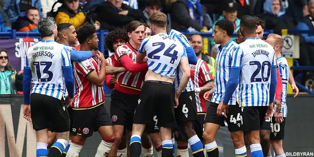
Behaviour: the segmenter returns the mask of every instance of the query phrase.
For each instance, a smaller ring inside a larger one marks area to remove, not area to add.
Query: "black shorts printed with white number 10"
[[[271,118],[271,133],[270,140],[281,140],[285,136],[286,117],[282,123],[276,123],[275,117]]]

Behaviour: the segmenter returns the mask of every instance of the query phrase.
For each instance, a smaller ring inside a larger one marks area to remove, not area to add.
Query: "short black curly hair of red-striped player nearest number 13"
[[[80,44],[84,44],[84,42],[88,39],[91,39],[96,33],[96,28],[94,25],[84,25],[78,28],[78,42]]]

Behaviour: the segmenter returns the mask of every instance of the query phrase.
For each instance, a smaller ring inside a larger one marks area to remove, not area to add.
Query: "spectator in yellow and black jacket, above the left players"
[[[55,22],[57,25],[61,23],[70,23],[78,28],[85,22],[85,13],[79,8],[78,0],[64,0],[64,3],[58,8]]]

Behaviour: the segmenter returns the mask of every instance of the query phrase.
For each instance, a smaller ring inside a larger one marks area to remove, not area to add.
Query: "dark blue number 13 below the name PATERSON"
[[[49,68],[52,65],[52,62],[33,62],[33,65],[36,67],[36,74],[38,77],[39,82],[48,82],[52,80],[53,74],[51,71],[49,71]],[[48,75],[48,78],[41,78],[41,73],[40,73],[40,66],[46,66],[43,70],[44,74]]]

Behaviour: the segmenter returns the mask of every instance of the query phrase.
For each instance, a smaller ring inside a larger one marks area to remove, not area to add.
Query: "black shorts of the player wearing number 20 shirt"
[[[244,106],[243,107],[243,131],[257,131],[262,128],[265,122],[265,115],[268,106]]]

